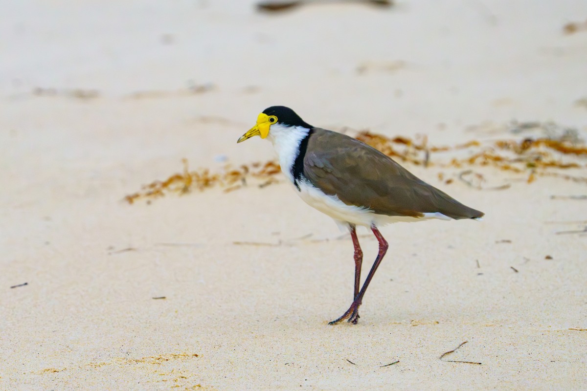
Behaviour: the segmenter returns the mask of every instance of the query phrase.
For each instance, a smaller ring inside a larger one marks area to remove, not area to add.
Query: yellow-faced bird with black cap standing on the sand
[[[281,171],[308,205],[347,227],[355,249],[353,301],[339,318],[329,322],[359,321],[359,307],[389,244],[379,227],[396,222],[429,219],[475,219],[483,212],[470,208],[417,178],[392,158],[356,138],[314,127],[289,107],[271,106],[237,143],[259,136],[268,138]],[[379,252],[360,287],[363,251],[357,226],[370,229]]]

